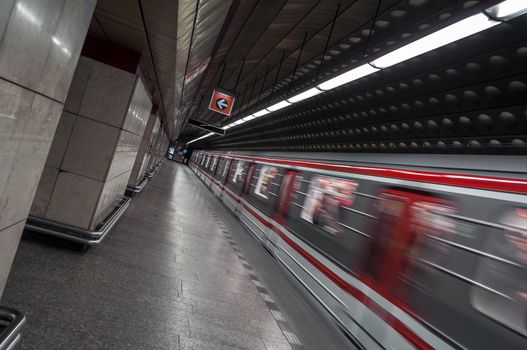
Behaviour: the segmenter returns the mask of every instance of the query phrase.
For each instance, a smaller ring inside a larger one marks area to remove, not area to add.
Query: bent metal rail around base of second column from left
[[[102,226],[96,231],[82,229],[80,227],[63,224],[60,222],[29,216],[26,229],[48,234],[50,236],[67,239],[73,242],[82,243],[84,245],[93,246],[102,242],[104,237],[110,232],[113,226],[119,221],[128,206],[130,205],[130,198],[123,197],[119,207],[117,207],[104,221]]]

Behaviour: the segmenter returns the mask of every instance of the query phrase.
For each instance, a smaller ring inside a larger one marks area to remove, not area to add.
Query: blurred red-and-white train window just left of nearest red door
[[[343,207],[351,207],[357,187],[352,180],[314,176],[300,217],[332,235],[340,235],[344,230]]]

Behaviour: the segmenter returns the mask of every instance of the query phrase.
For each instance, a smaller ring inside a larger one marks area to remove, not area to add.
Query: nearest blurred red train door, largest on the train
[[[455,234],[449,218],[453,205],[443,199],[389,189],[376,203],[377,221],[364,251],[362,273],[372,286],[412,311],[426,313],[438,287],[429,268],[444,265],[449,253],[442,243]]]

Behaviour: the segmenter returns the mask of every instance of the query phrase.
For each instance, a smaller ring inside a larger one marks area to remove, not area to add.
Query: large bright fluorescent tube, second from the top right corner
[[[483,13],[478,13],[387,53],[386,55],[373,60],[371,64],[375,67],[387,68],[410,58],[419,56],[425,52],[435,50],[441,46],[445,46],[454,41],[481,32],[482,30],[493,27],[499,23],[500,22],[489,19]]]

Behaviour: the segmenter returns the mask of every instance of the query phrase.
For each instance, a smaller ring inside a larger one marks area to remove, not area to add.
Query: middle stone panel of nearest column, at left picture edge
[[[27,217],[61,110],[0,79],[0,229]]]

